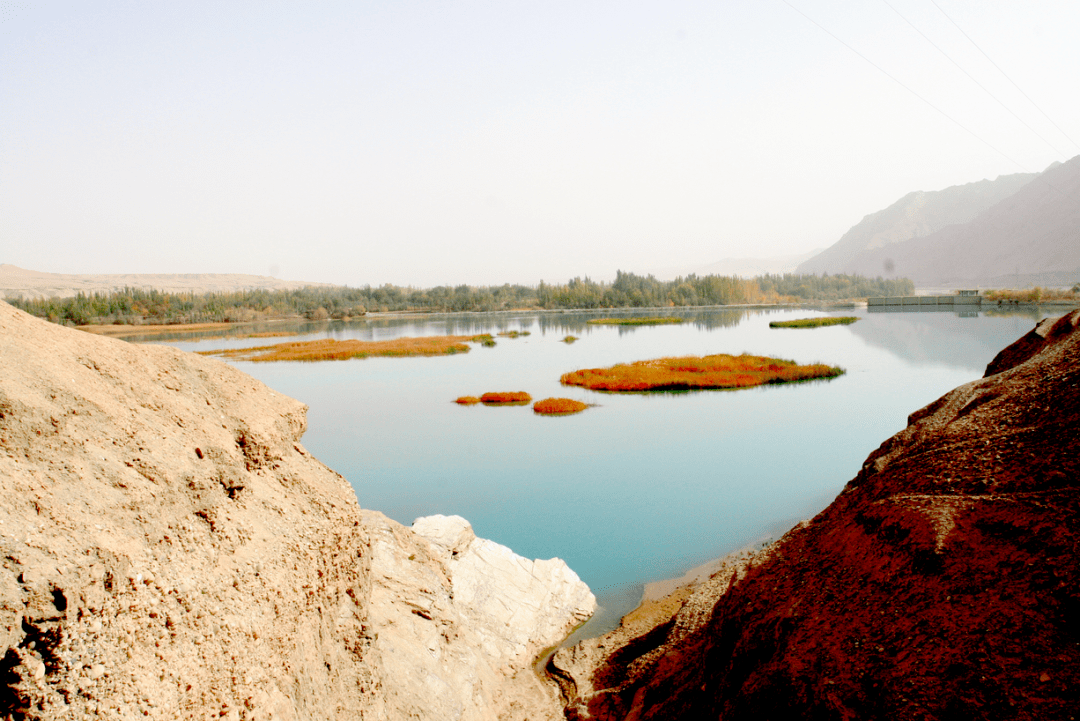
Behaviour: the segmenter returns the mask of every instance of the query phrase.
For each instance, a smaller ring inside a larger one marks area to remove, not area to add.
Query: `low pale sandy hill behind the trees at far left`
[[[0,298],[68,298],[80,293],[108,293],[123,288],[168,293],[229,293],[233,290],[294,290],[328,283],[279,281],[243,273],[116,273],[81,275],[42,273],[0,263]]]

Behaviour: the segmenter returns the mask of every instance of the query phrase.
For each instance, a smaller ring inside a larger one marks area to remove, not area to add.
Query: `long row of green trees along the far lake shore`
[[[28,313],[56,323],[210,323],[301,315],[328,318],[367,311],[499,311],[514,309],[656,308],[839,300],[914,293],[907,280],[858,275],[688,275],[658,281],[619,271],[612,283],[573,278],[564,285],[403,288],[319,286],[297,290],[162,293],[124,288],[72,298],[10,299]]]

